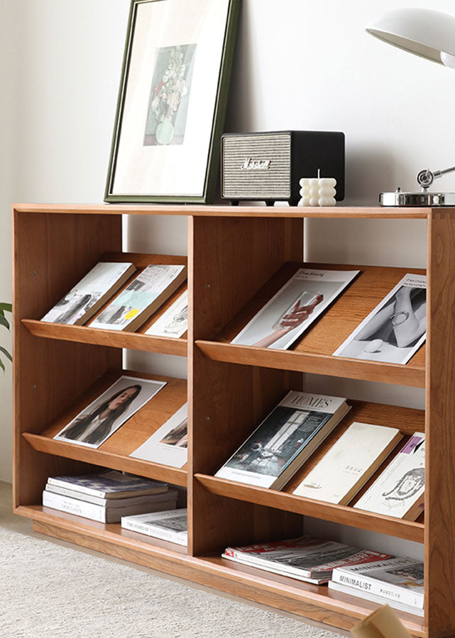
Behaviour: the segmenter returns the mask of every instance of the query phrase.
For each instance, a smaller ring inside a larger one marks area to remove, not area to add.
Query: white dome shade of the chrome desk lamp
[[[366,26],[375,38],[455,68],[455,18],[432,9],[396,9]]]

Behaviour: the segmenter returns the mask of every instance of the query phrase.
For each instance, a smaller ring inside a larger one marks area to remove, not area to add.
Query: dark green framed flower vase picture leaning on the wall
[[[211,203],[241,0],[132,0],[104,201]]]

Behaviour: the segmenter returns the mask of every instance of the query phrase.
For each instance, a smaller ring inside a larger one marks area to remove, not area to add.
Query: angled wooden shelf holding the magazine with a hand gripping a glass
[[[290,349],[280,350],[231,344],[231,340],[299,268],[360,270],[361,274],[341,293]],[[425,345],[406,365],[373,360],[333,357],[332,353],[381,299],[407,273],[424,274],[421,269],[339,264],[287,263],[269,279],[246,306],[216,335],[213,341],[197,340],[197,347],[210,359],[250,366],[264,366],[314,374],[344,376],[349,379],[382,381],[388,384],[424,387]]]

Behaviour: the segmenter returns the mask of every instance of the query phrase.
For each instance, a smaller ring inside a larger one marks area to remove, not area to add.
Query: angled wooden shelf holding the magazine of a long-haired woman
[[[155,379],[165,381],[164,386],[146,405],[138,410],[116,430],[99,448],[85,447],[74,443],[55,440],[53,437],[62,430],[84,406],[92,403],[102,394],[106,388],[119,378],[120,374],[138,376],[143,379]],[[141,374],[132,371],[111,370],[102,376],[96,384],[77,398],[64,413],[53,421],[43,432],[23,432],[23,438],[33,449],[45,454],[53,454],[57,457],[84,461],[101,467],[109,467],[120,471],[156,478],[160,481],[179,486],[187,486],[187,469],[169,467],[133,459],[129,456],[136,448],[143,444],[158,427],[163,425],[187,401],[187,381],[185,379],[172,379],[167,376]]]

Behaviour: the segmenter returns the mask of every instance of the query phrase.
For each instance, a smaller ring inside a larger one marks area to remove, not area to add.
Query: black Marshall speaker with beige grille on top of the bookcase
[[[301,177],[336,179],[336,200],[344,199],[344,133],[283,130],[226,133],[221,137],[221,196],[242,200],[288,201],[297,206]]]

